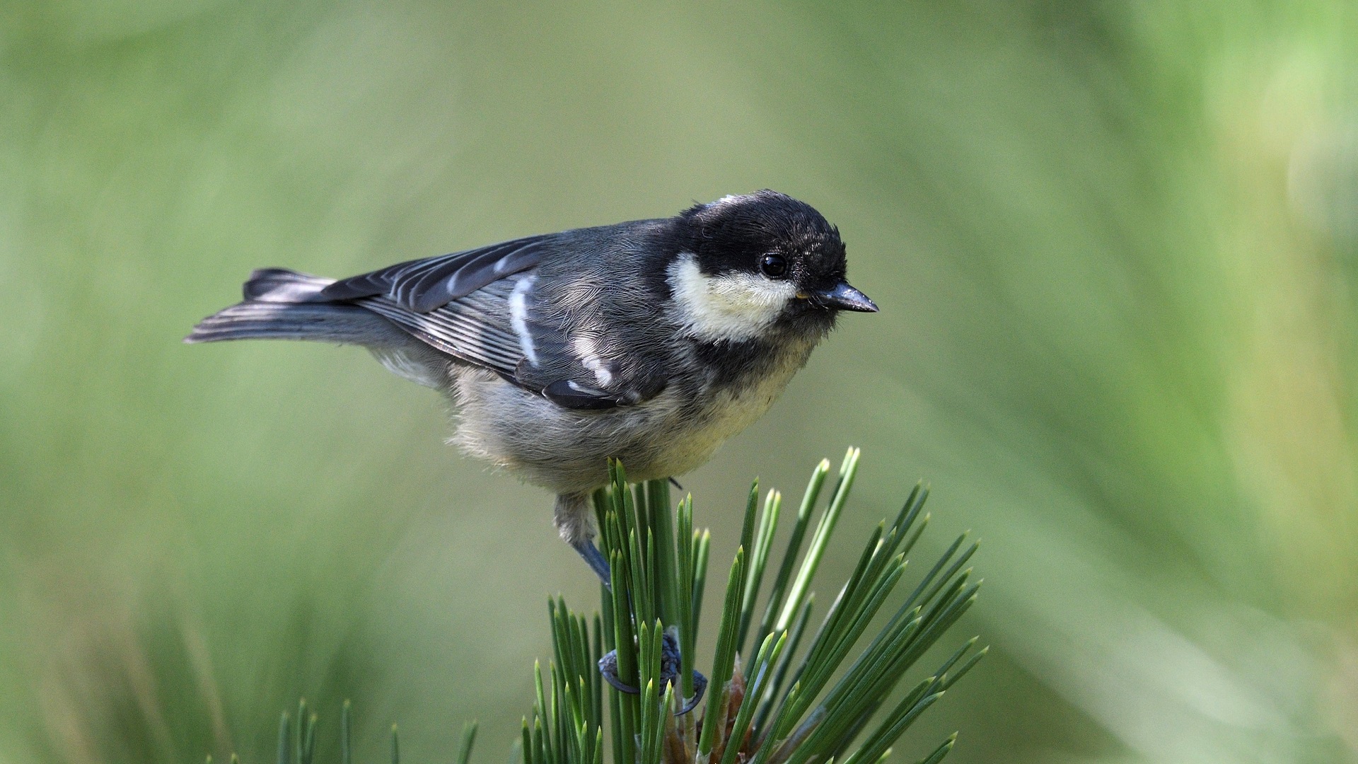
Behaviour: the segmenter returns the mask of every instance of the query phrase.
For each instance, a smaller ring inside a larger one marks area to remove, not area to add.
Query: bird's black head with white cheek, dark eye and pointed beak
[[[695,338],[823,334],[841,310],[877,310],[845,280],[839,230],[809,204],[766,189],[695,205],[678,224],[680,246],[665,276]]]

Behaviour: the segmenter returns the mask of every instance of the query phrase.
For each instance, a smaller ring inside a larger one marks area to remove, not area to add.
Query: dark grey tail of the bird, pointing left
[[[333,279],[282,268],[255,271],[244,284],[244,302],[204,318],[183,341],[268,338],[372,344],[391,336],[391,325],[363,307],[307,302],[330,283]]]

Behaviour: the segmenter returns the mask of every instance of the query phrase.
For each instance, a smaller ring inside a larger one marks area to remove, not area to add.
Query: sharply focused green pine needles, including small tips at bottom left
[[[812,527],[830,476],[828,461],[816,465],[781,556],[773,548],[782,495],[767,491],[759,502],[758,480],[751,485],[716,650],[706,662],[697,655],[697,635],[712,534],[694,526],[691,496],[672,504],[667,481],[629,484],[623,466],[611,462],[608,485],[593,495],[611,589],[600,587],[600,610],[593,614],[572,612],[559,597],[547,601],[553,653],[546,666],[534,666],[535,701],[523,718],[516,757],[523,764],[885,761],[914,722],[989,648],[975,650],[972,638],[933,673],[921,677],[917,669],[980,587],[967,567],[978,544],[967,545],[966,533],[917,580],[907,576],[914,570],[907,557],[929,525],[923,484],[914,487],[889,523],[883,521],[868,534],[812,632],[811,587],[847,506],[858,458],[857,449],[845,454]],[[765,590],[770,567],[777,572]],[[907,578],[913,583],[899,587],[910,591],[902,597],[898,585]],[[883,613],[889,613],[885,624],[865,640]],[[743,661],[751,642],[758,648]],[[619,692],[600,676],[600,659],[611,651],[615,678],[636,693]],[[675,716],[694,699],[694,669],[703,666],[710,672],[703,703]],[[896,692],[911,674],[910,689]],[[289,714],[281,715],[278,764],[314,764],[318,722],[306,700],[297,704],[296,725]],[[340,716],[342,764],[352,764],[350,737],[346,700]],[[452,757],[456,764],[470,764],[475,737],[477,725],[467,723]],[[955,742],[956,735],[949,737],[918,764],[937,764]],[[401,761],[395,725],[391,761]]]

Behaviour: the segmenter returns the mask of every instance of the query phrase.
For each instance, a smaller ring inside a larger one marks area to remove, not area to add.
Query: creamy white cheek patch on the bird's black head
[[[741,341],[769,328],[797,287],[755,273],[709,276],[693,253],[679,253],[665,272],[683,330],[708,341]]]

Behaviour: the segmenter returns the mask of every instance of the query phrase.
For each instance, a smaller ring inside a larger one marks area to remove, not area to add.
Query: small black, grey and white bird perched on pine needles
[[[338,281],[255,271],[244,302],[185,341],[367,347],[451,398],[463,450],[555,491],[557,530],[607,582],[589,519],[607,459],[634,480],[699,466],[769,409],[841,310],[877,306],[845,281],[839,230],[760,190]]]

